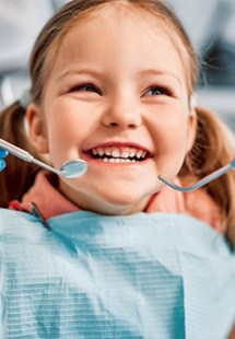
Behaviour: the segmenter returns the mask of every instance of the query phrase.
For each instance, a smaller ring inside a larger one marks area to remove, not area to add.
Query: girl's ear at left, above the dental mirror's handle
[[[45,116],[42,107],[32,103],[27,107],[26,121],[28,138],[38,153],[48,153],[48,139],[45,124]]]

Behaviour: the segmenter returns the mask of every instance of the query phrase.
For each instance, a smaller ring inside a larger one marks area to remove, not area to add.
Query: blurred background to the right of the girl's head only
[[[201,65],[198,102],[235,131],[235,0],[167,0]]]

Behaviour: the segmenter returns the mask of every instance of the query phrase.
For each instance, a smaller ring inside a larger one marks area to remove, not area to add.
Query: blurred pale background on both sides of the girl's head
[[[28,56],[46,21],[68,0],[0,0],[0,108],[30,85]],[[200,105],[235,131],[235,0],[166,0],[198,54]]]

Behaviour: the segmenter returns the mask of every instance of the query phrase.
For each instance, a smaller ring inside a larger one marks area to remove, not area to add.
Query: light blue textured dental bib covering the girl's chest
[[[225,339],[235,255],[180,214],[0,210],[0,338]]]

